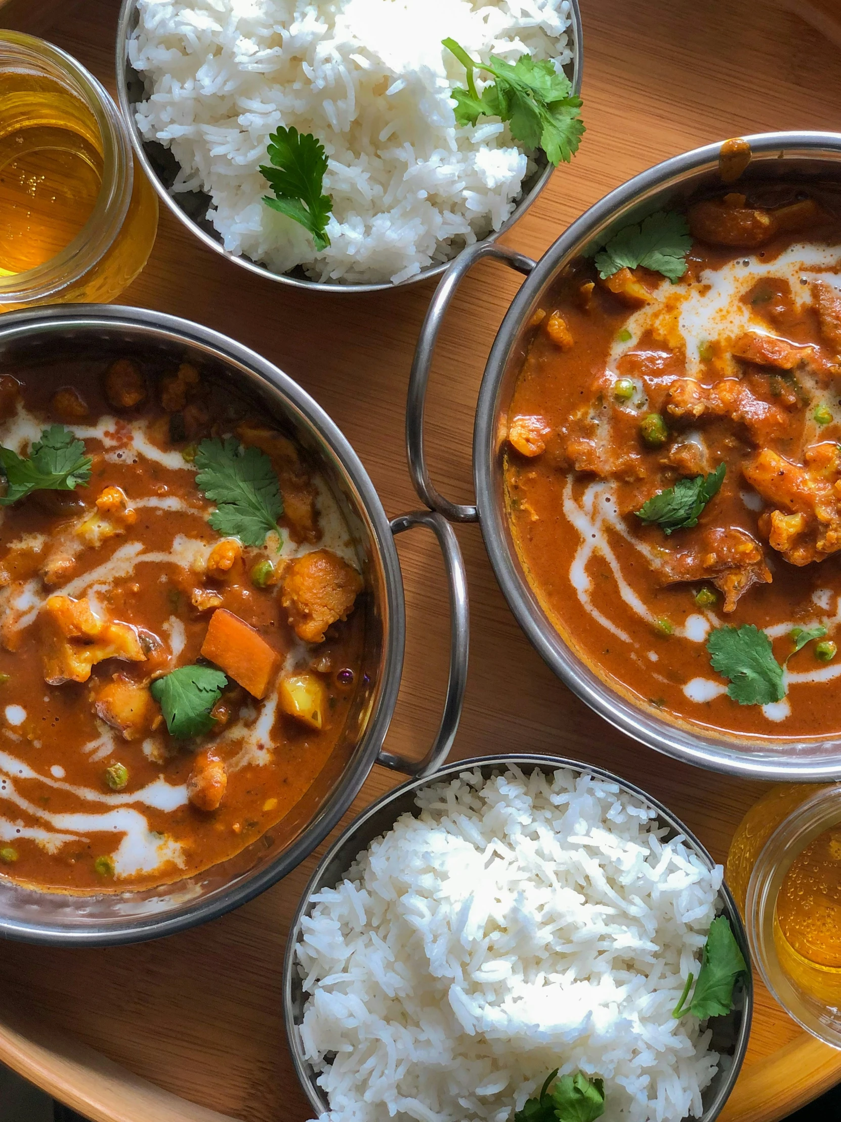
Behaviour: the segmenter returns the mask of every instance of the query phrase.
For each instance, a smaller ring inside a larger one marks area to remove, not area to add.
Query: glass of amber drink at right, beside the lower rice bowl
[[[768,990],[841,1048],[841,783],[773,788],[737,829],[727,876]]]

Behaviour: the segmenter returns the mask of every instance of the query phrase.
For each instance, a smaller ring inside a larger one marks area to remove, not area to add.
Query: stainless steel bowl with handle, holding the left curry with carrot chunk
[[[342,738],[290,813],[242,853],[161,889],[82,896],[43,892],[0,876],[0,937],[29,942],[105,945],[153,939],[214,919],[285,876],[348,810],[375,763],[427,775],[455,735],[468,663],[468,598],[455,534],[438,514],[417,511],[389,522],[368,473],[327,414],[253,351],[172,315],[137,307],[70,304],[0,318],[0,365],[22,378],[61,361],[126,353],[151,362],[193,362],[244,395],[295,436],[320,466],[348,522],[366,581],[361,683]],[[406,614],[394,535],[424,526],[444,555],[451,609],[450,678],[441,726],[418,762],[382,751],[400,684]]]

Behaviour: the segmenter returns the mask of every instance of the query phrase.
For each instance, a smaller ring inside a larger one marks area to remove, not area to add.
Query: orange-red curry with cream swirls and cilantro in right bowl
[[[574,263],[507,435],[524,569],[600,677],[721,734],[841,734],[839,194],[722,190]]]

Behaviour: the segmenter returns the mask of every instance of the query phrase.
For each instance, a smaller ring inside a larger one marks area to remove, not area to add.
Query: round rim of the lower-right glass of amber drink
[[[841,1015],[830,1023],[826,1005],[803,991],[779,962],[774,938],[777,896],[794,862],[832,826],[841,825],[841,782],[816,791],[777,826],[759,852],[745,900],[745,928],[750,954],[775,1001],[813,1037],[841,1049]],[[841,978],[841,968],[831,969]],[[823,1015],[822,1015],[823,1014]]]

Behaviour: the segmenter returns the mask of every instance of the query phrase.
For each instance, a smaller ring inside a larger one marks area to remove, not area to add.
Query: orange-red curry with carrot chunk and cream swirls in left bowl
[[[124,892],[231,857],[357,688],[326,482],[202,371],[128,356],[4,374],[0,444],[0,875]]]

